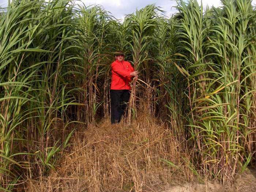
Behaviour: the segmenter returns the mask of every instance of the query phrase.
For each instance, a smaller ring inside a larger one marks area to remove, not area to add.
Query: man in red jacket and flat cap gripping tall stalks
[[[131,63],[124,61],[123,51],[117,51],[115,59],[111,64],[111,124],[120,122],[129,102],[130,82],[133,77],[138,79],[138,71],[134,71]]]

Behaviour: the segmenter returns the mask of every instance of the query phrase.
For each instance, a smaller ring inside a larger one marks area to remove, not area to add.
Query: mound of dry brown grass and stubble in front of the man
[[[145,114],[129,126],[111,125],[105,119],[77,131],[71,142],[56,170],[27,182],[27,192],[162,191],[167,183],[192,177],[183,166],[181,156],[186,154],[178,150],[172,131]]]

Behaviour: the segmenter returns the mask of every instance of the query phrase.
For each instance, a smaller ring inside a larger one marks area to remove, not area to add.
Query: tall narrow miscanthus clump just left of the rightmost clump
[[[199,6],[197,1],[185,3],[181,0],[176,8],[179,12],[175,19],[177,19],[177,39],[179,41],[177,54],[180,55],[180,59],[175,65],[185,77],[183,83],[187,84],[185,93],[188,98],[188,106],[183,106],[184,115],[190,111],[187,120],[194,125],[197,120],[196,116],[199,114],[195,113],[193,109],[198,104],[197,99],[205,94],[206,83],[211,80],[208,75],[214,72],[207,70],[207,66],[211,63],[208,63],[205,58],[207,28],[205,28],[202,5]],[[197,137],[194,140],[196,148],[201,149],[199,130],[192,127],[189,131],[192,136]],[[203,156],[203,151],[199,150],[199,153]]]

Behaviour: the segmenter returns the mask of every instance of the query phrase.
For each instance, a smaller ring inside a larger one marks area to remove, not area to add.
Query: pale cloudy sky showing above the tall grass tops
[[[173,7],[176,5],[175,0],[80,0],[84,2],[85,5],[102,5],[107,11],[111,12],[114,17],[117,19],[123,19],[125,15],[136,11],[136,8],[140,9],[145,7],[148,4],[154,4],[156,6],[162,7],[162,10],[166,12],[166,16],[171,16],[176,12],[176,9]],[[201,3],[201,0],[197,0]],[[2,7],[7,5],[8,0],[0,0],[0,6]],[[77,1],[79,3],[79,1]],[[207,4],[211,7],[221,5],[220,0],[202,0],[203,6]],[[252,1],[253,5],[256,5],[256,0]]]

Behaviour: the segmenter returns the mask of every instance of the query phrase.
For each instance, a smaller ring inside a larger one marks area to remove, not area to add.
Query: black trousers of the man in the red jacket
[[[111,124],[120,122],[130,98],[129,90],[110,90]]]

